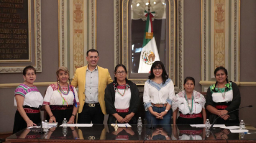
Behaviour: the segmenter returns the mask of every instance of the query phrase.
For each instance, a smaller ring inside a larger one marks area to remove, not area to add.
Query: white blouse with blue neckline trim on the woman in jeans
[[[143,101],[144,108],[147,111],[148,107],[152,107],[151,103],[154,104],[165,104],[172,105],[172,99],[175,97],[174,85],[171,79],[167,79],[166,82],[156,83],[153,80],[147,80],[144,86]]]

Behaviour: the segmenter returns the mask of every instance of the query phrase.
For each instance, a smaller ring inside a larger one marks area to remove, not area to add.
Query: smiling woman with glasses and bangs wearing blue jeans
[[[174,85],[168,78],[163,63],[155,61],[145,82],[143,102],[148,124],[170,124],[172,119],[172,98]]]

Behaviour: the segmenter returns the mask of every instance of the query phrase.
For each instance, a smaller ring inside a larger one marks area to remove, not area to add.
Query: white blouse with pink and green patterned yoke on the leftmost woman
[[[39,105],[42,105],[44,98],[41,93],[38,91],[37,87],[29,87],[26,84],[20,84],[15,90],[15,96],[20,95],[24,97],[23,106],[30,106],[33,108],[39,108]],[[17,106],[17,102],[14,98],[14,106]]]

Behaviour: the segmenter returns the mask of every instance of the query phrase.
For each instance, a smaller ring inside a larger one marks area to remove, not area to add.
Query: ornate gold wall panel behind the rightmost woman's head
[[[229,80],[239,82],[240,0],[202,0],[201,10],[200,83],[215,81],[218,66],[228,70]]]

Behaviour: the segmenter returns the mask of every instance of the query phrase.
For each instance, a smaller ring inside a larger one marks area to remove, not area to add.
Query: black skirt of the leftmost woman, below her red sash
[[[40,113],[26,113],[30,120],[38,126],[41,123]],[[16,111],[14,118],[14,126],[12,130],[12,134],[19,132],[22,129],[27,127],[26,121],[21,117],[20,112]]]

